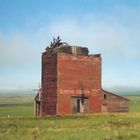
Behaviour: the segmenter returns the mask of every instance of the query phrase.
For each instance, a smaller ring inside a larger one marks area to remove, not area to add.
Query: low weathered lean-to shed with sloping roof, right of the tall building
[[[102,90],[102,112],[128,112],[129,100],[112,92]]]

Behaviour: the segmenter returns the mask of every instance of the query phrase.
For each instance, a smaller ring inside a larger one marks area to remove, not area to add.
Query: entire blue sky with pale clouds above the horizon
[[[140,89],[140,0],[0,0],[0,90],[34,89],[62,41],[102,54],[106,89]]]

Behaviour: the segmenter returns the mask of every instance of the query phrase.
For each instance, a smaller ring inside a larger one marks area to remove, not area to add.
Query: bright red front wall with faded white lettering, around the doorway
[[[57,54],[57,113],[71,114],[71,96],[80,95],[80,82],[89,99],[89,113],[101,112],[101,57]]]

